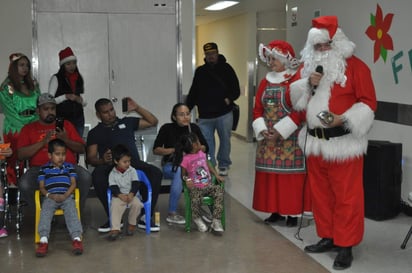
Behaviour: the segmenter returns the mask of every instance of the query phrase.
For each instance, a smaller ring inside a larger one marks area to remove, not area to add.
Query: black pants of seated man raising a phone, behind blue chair
[[[159,198],[160,187],[162,183],[163,173],[156,166],[150,165],[144,161],[139,161],[135,169],[143,171],[152,185],[152,211],[151,215],[154,214],[157,199]],[[96,192],[97,198],[103,205],[104,211],[107,216],[109,216],[109,205],[107,203],[107,188],[109,187],[109,173],[113,169],[112,165],[100,165],[97,166],[93,173],[93,186]],[[139,188],[140,194],[142,195],[143,202],[147,200],[147,188],[143,183],[140,183]]]

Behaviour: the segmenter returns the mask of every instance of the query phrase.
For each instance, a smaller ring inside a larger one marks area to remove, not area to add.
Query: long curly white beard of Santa
[[[302,77],[309,77],[312,72],[316,71],[318,66],[322,66],[322,81],[327,81],[331,85],[334,82],[342,86],[345,85],[346,60],[336,50],[312,50],[309,54],[303,56],[302,61],[304,62]]]

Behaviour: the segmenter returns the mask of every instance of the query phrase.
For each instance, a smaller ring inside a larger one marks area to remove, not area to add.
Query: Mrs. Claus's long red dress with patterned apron
[[[297,144],[299,131],[276,143],[259,137],[262,129],[272,128],[283,117],[294,114],[289,84],[295,74],[274,73],[268,73],[260,82],[253,109],[258,139],[253,209],[296,216],[311,211],[304,154]]]

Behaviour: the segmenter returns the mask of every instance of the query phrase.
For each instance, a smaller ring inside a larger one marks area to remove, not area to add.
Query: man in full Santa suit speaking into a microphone
[[[305,147],[316,230],[322,239],[309,253],[335,250],[336,270],[351,266],[352,246],[364,232],[363,155],[377,102],[369,68],[353,55],[355,44],[338,27],[336,16],[313,19],[301,52],[300,79],[291,85],[297,111],[306,112],[299,135]],[[282,137],[297,120],[284,121]]]

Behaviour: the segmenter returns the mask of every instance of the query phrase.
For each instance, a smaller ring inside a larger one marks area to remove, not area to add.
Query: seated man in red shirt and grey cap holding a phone
[[[48,93],[43,93],[37,100],[36,112],[39,120],[25,125],[17,142],[19,160],[29,160],[30,168],[19,180],[22,198],[29,207],[34,208],[34,191],[38,189],[37,176],[40,166],[49,161],[48,143],[59,138],[66,145],[66,161],[75,166],[78,176],[77,187],[80,191],[80,208],[84,208],[91,185],[91,175],[83,167],[77,165],[77,154],[85,152],[85,142],[74,126],[64,121],[63,130],[56,128],[56,100]]]

